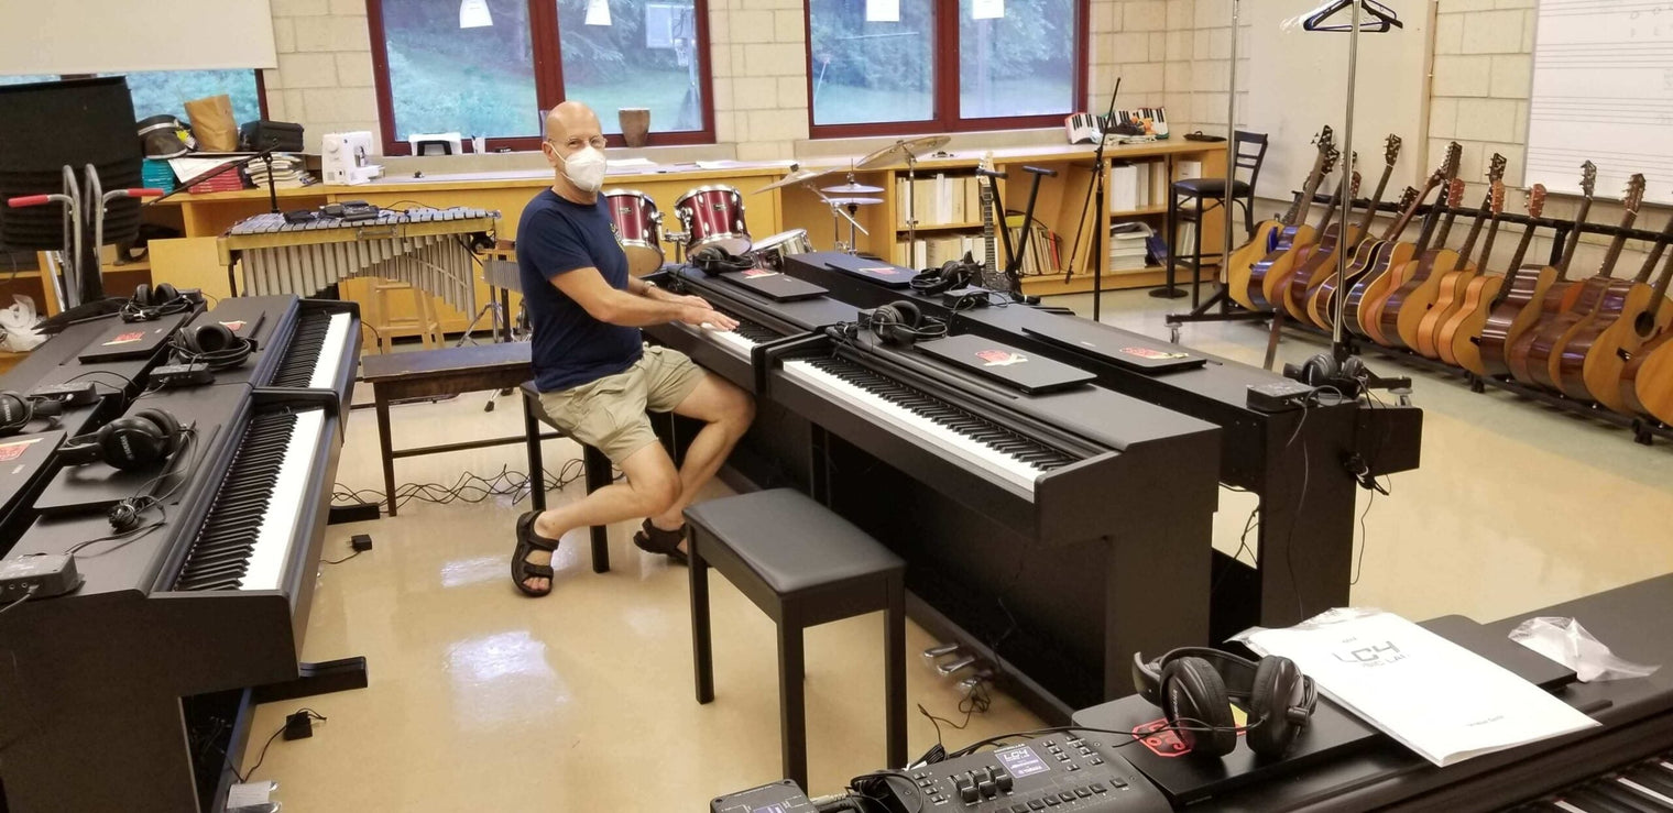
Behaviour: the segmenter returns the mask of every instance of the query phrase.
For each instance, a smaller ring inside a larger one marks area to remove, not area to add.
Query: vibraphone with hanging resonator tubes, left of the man
[[[233,293],[298,294],[353,276],[397,279],[477,313],[477,246],[492,246],[500,212],[485,209],[383,211],[376,219],[284,222],[283,214],[239,221],[216,241]],[[238,284],[243,266],[244,284]]]

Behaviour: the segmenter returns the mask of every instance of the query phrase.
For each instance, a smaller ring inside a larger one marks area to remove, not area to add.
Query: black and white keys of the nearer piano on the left
[[[233,465],[221,480],[221,488],[209,504],[209,514],[181,575],[176,591],[236,591],[249,567],[249,554],[256,547],[261,519],[268,514],[268,500],[279,477],[279,463],[296,430],[296,415],[269,412],[249,420],[249,428],[238,445]],[[296,510],[279,505],[276,510]]]

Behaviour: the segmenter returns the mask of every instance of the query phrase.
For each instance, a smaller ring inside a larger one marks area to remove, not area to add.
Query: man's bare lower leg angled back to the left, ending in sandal
[[[564,534],[584,525],[649,517],[679,502],[679,472],[674,470],[674,460],[661,443],[649,443],[627,455],[627,460],[621,462],[621,470],[627,475],[626,483],[606,485],[569,505],[540,512],[534,520],[534,532],[545,539],[562,539]],[[552,554],[530,550],[525,560],[539,565],[552,564]],[[545,577],[537,575],[524,579],[524,584],[532,591],[545,591],[550,585]]]

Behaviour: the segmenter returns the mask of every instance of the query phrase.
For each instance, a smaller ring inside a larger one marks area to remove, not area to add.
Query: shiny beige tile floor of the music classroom
[[[1087,296],[1066,304],[1089,311]],[[1171,304],[1111,294],[1104,318],[1163,336]],[[1265,333],[1243,325],[1188,326],[1184,341],[1260,361]],[[1290,338],[1283,358],[1318,350]],[[1379,365],[1395,371],[1392,365]],[[1353,602],[1410,617],[1462,612],[1496,619],[1673,570],[1673,445],[1645,448],[1619,430],[1472,395],[1417,373],[1427,410],[1424,467],[1394,477],[1365,530]],[[395,410],[398,443],[520,432],[512,398],[485,396]],[[398,463],[400,482],[450,482],[458,472],[522,467],[519,447]],[[550,442],[547,467],[576,455]],[[376,428],[353,413],[338,478],[378,487]],[[577,487],[554,492],[574,499]],[[723,493],[714,487],[714,493]],[[1236,547],[1253,502],[1221,492],[1216,545]],[[1362,502],[1363,507],[1363,502]],[[723,579],[713,580],[716,703],[691,688],[686,572],[639,554],[631,524],[611,529],[612,572],[592,574],[584,534],[559,554],[557,589],[530,601],[509,584],[505,499],[478,505],[410,504],[397,519],[331,527],[326,555],[355,532],[376,547],[321,569],[304,657],[366,656],[363,691],[263,706],[244,768],[283,716],[311,706],[330,718],[304,741],[276,741],[258,778],[278,780],[288,811],[644,810],[696,811],[706,800],[778,776],[778,686],[770,621]],[[882,616],[808,632],[811,783],[830,793],[882,766]],[[934,641],[908,629],[917,652]],[[959,691],[915,654],[912,704],[954,714]],[[949,744],[1037,724],[1007,698]],[[935,743],[915,711],[913,754]]]

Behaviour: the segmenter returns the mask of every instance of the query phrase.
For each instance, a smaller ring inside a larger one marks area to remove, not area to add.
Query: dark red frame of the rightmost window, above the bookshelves
[[[934,92],[930,94],[934,112],[929,119],[915,122],[867,122],[867,124],[818,124],[813,117],[813,3],[801,3],[801,38],[806,50],[808,80],[808,137],[810,139],[857,139],[872,136],[912,136],[920,132],[984,132],[1016,130],[1026,127],[1059,127],[1069,114],[1044,115],[1005,115],[997,119],[964,119],[959,115],[959,3],[950,3],[954,13],[935,15],[935,65]],[[940,8],[937,8],[940,12]],[[1091,0],[1074,0],[1074,100],[1084,104],[1087,95],[1087,65],[1091,37]],[[1076,107],[1072,112],[1081,112]]]

